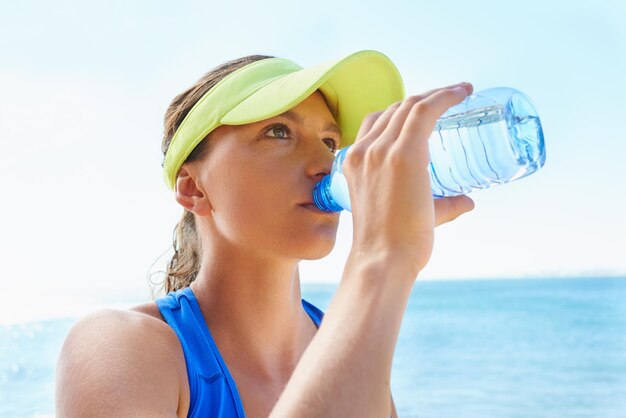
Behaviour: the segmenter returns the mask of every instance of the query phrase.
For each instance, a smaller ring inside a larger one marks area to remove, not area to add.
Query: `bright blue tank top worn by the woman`
[[[226,368],[191,288],[156,300],[165,321],[178,335],[189,379],[188,417],[244,418],[243,403]],[[302,299],[302,306],[319,328],[324,314]]]

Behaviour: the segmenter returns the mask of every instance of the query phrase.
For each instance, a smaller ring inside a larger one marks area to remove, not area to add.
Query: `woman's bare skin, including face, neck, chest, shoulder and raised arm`
[[[207,157],[183,165],[176,200],[196,215],[203,248],[191,288],[247,417],[396,416],[391,360],[410,288],[435,225],[473,208],[465,196],[433,202],[426,172],[425,141],[471,85],[462,90],[410,97],[363,122],[344,165],[352,250],[319,330],[302,308],[298,263],[332,250],[339,221],[306,206],[340,141],[321,94],[288,115],[219,127]],[[182,349],[154,303],[94,314],[68,335],[58,417],[188,408]]]

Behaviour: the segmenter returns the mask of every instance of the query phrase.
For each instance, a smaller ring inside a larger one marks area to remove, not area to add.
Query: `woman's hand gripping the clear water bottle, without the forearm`
[[[415,278],[430,258],[434,227],[474,207],[467,196],[433,199],[428,174],[428,139],[437,119],[472,91],[469,83],[431,90],[364,119],[343,163],[352,254],[399,256]]]

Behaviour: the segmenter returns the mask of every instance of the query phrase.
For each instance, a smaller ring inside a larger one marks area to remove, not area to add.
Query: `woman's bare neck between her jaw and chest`
[[[298,260],[207,253],[191,288],[226,359],[234,353],[252,373],[288,379],[315,333]]]

